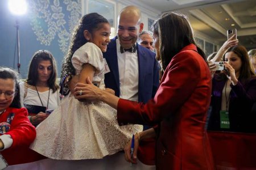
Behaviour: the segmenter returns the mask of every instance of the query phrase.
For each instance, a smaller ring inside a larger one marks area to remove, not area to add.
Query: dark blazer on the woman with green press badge
[[[255,115],[251,114],[251,108],[253,108],[256,101],[256,77],[251,78],[247,83],[241,83],[238,79],[236,86],[231,85],[232,90],[229,99],[230,129],[220,128],[221,97],[226,79],[218,79],[220,79],[220,74],[214,75],[208,129],[256,133]]]

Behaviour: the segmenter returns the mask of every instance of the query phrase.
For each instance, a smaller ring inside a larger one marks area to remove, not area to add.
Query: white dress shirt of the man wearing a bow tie
[[[139,63],[138,54],[120,52],[120,42],[117,39],[117,59],[120,82],[120,98],[138,101]]]

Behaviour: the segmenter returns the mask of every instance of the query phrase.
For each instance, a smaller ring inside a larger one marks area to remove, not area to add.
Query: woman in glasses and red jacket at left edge
[[[18,73],[0,67],[0,152],[6,160],[24,154],[18,147],[28,147],[36,136],[35,127],[20,107]]]

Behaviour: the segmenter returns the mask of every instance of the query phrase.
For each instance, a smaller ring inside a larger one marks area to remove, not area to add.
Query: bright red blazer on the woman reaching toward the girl
[[[190,44],[172,58],[154,99],[118,101],[119,125],[159,125],[156,169],[214,169],[205,130],[211,79],[207,63]]]

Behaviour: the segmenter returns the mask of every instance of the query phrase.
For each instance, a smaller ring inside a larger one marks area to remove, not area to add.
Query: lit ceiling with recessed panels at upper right
[[[227,39],[227,29],[236,28],[239,43],[247,50],[256,48],[256,0],[134,0],[134,3],[158,14],[181,11],[189,16],[195,34],[220,45]]]

